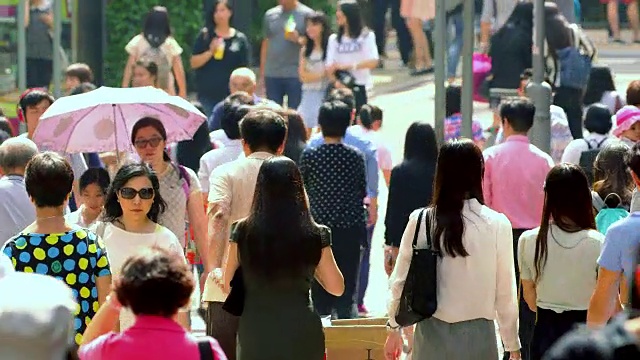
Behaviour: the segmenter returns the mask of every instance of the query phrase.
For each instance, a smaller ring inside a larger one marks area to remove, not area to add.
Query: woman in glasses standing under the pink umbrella
[[[138,156],[157,174],[159,192],[167,202],[166,211],[158,216],[158,223],[166,226],[186,248],[186,229],[193,229],[193,240],[200,254],[207,253],[207,218],[200,180],[196,173],[187,167],[171,162],[167,147],[167,131],[160,120],[144,117],[133,126],[131,142]],[[188,226],[187,226],[188,225]],[[204,269],[200,269],[202,280],[213,269],[203,257]],[[204,282],[201,281],[201,285]]]

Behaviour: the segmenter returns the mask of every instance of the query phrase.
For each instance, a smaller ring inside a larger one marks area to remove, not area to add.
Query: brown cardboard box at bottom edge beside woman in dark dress
[[[327,360],[384,360],[387,318],[334,320],[324,328]]]

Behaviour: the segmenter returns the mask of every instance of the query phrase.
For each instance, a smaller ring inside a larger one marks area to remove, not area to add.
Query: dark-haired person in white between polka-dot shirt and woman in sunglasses
[[[67,221],[84,228],[91,227],[102,213],[109,182],[109,172],[103,168],[85,171],[78,181],[82,205],[65,216]]]

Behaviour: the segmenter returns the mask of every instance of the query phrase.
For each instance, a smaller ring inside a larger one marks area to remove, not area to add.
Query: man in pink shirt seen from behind
[[[505,140],[484,151],[484,201],[511,221],[516,281],[520,279],[516,258],[518,239],[525,230],[540,226],[544,182],[554,165],[551,156],[529,143],[527,132],[533,126],[535,112],[535,106],[527,98],[503,102],[500,119]],[[534,325],[535,313],[521,300],[520,341],[525,360]]]

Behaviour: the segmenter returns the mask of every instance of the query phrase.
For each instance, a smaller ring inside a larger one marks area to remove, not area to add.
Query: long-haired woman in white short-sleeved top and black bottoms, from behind
[[[556,340],[587,321],[604,242],[596,230],[589,182],[577,165],[556,165],[544,191],[542,223],[518,243],[524,299],[536,312],[530,360],[542,359]]]

